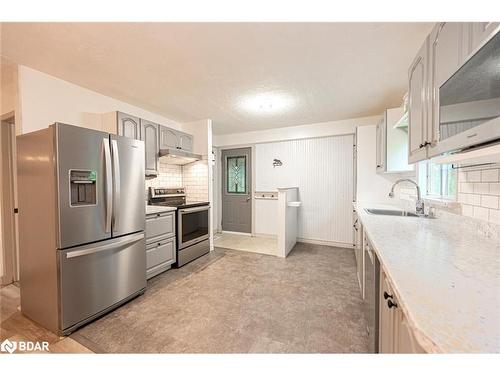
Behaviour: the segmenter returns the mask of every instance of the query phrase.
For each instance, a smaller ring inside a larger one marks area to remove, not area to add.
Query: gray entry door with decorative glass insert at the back
[[[252,231],[252,149],[222,151],[222,230]]]

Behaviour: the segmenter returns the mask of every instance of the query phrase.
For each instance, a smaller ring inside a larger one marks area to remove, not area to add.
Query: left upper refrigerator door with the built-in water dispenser
[[[111,232],[106,232],[106,214],[109,214],[106,194],[110,191],[105,186],[109,177],[105,172],[105,145],[109,145],[109,135],[60,123],[53,126],[57,145],[58,248],[110,238]],[[95,184],[95,203],[71,203],[71,171],[90,172],[94,181],[87,182]]]

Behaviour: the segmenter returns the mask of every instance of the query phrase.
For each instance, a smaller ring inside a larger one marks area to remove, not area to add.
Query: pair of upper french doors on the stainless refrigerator
[[[144,230],[144,142],[56,126],[59,248]]]

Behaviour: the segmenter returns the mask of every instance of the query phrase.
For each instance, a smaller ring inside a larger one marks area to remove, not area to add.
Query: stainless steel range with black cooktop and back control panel
[[[207,254],[210,251],[209,240],[209,202],[186,201],[184,188],[149,188],[149,204],[177,208],[177,262],[174,267]]]

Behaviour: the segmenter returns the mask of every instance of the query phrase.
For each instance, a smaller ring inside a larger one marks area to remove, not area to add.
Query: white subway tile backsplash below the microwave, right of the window
[[[458,202],[462,215],[500,224],[500,166],[461,169]]]

